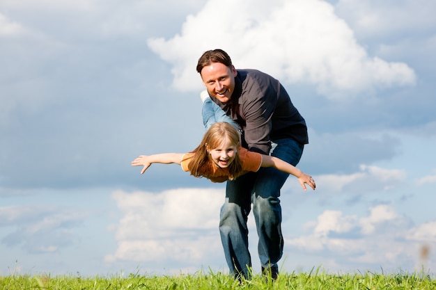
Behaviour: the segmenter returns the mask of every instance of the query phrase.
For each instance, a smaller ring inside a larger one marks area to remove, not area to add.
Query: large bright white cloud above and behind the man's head
[[[230,5],[233,9],[228,10]],[[259,0],[210,0],[197,15],[187,17],[180,35],[150,38],[148,45],[173,65],[178,90],[200,89],[196,61],[203,51],[218,47],[231,55],[237,68],[257,68],[283,82],[312,83],[329,98],[412,85],[416,79],[405,63],[368,56],[333,6],[319,0],[267,6]]]

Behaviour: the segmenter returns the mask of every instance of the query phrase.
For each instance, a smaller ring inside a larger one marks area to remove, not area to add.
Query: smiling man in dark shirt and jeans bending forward
[[[277,79],[258,70],[236,70],[221,49],[205,51],[196,70],[212,101],[239,124],[244,147],[297,165],[309,143],[306,122]],[[260,168],[227,182],[219,232],[228,267],[236,277],[250,273],[247,217],[253,204],[262,272],[277,278],[283,254],[279,196],[287,178],[279,170]]]

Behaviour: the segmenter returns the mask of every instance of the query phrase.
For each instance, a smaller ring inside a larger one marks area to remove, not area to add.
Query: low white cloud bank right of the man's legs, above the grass
[[[387,205],[372,207],[362,217],[326,210],[309,225],[311,234],[285,239],[288,247],[316,255],[320,264],[334,257],[341,269],[347,264],[394,271],[414,268],[421,262],[422,245],[436,242],[435,221],[414,227],[409,218]]]

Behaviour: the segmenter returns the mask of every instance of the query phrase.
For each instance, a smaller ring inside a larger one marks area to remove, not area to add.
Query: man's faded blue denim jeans
[[[270,154],[296,166],[304,145],[292,138],[274,140]],[[248,249],[247,216],[253,204],[258,232],[258,255],[264,267],[277,266],[283,255],[280,188],[288,174],[274,168],[260,168],[226,185],[226,200],[221,207],[219,232],[230,271],[249,276],[251,256]]]

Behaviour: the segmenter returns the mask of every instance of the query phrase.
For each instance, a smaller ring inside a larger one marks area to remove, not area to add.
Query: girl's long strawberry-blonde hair
[[[212,124],[204,134],[200,145],[192,151],[194,156],[192,156],[188,166],[191,175],[194,177],[211,177],[215,163],[208,154],[208,149],[213,150],[219,147],[225,138],[228,138],[238,148],[235,159],[228,166],[228,179],[233,180],[242,175],[242,163],[239,156],[240,133],[235,127],[226,122]],[[206,148],[206,145],[208,148]]]

